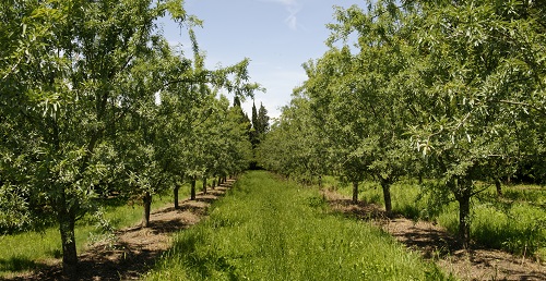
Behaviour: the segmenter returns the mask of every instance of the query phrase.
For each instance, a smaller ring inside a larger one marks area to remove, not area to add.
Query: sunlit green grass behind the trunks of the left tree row
[[[153,209],[173,205],[171,194],[173,192],[154,196]],[[187,184],[179,190],[180,199],[189,197],[189,194]],[[142,212],[141,205],[112,204],[105,207],[104,217],[115,229],[122,229],[139,223],[142,220]],[[75,241],[79,253],[85,251],[90,243],[109,237],[108,234],[103,235],[95,224],[90,218],[84,218],[76,223]],[[57,227],[48,228],[44,232],[0,235],[0,278],[39,268],[48,260],[61,258],[61,251]]]

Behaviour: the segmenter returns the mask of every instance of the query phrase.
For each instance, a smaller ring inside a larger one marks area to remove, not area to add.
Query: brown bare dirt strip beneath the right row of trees
[[[370,221],[412,251],[434,260],[444,272],[462,280],[546,280],[546,265],[506,252],[475,245],[472,251],[458,249],[456,239],[443,228],[426,221],[402,217],[388,218],[382,207],[373,204],[352,204],[351,198],[324,191],[335,211]]]

